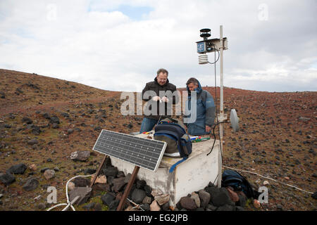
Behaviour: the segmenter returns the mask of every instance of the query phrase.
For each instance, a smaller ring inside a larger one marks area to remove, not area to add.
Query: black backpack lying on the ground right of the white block
[[[222,187],[232,186],[235,191],[242,191],[247,198],[258,199],[260,193],[252,188],[247,179],[235,170],[225,169],[221,180]]]

